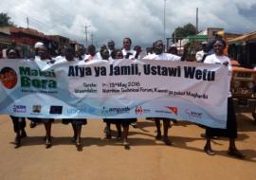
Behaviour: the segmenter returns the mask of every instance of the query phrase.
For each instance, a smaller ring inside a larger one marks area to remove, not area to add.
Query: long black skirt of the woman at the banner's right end
[[[224,136],[229,138],[237,138],[237,124],[236,117],[233,106],[233,99],[228,99],[228,119],[227,119],[227,129],[219,128],[206,128],[207,136]]]

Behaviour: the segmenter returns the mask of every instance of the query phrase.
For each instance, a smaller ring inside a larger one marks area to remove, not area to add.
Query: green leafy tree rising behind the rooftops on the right
[[[176,40],[177,39],[180,40],[187,36],[195,35],[195,34],[196,34],[196,27],[194,27],[191,23],[183,27],[176,27],[172,34],[173,42],[174,42],[174,38],[176,38]]]

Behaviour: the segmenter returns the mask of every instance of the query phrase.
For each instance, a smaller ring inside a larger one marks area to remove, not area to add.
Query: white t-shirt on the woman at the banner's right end
[[[232,94],[230,92],[230,82],[231,82],[231,75],[232,75],[232,65],[229,60],[229,57],[227,56],[217,56],[215,54],[211,54],[210,56],[207,56],[204,63],[215,63],[215,64],[223,64],[225,62],[228,62],[228,68],[229,68],[229,94],[228,97],[232,97]]]

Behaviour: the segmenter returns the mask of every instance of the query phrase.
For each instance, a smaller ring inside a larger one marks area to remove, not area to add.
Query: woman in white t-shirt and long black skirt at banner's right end
[[[231,63],[229,57],[224,55],[224,49],[226,47],[226,43],[223,40],[216,40],[213,44],[214,54],[208,56],[204,63],[217,63],[224,64],[229,68],[229,81],[231,80]],[[225,136],[229,137],[229,155],[244,158],[245,155],[237,150],[235,145],[235,138],[237,138],[237,124],[236,117],[233,107],[233,100],[231,97],[231,92],[229,91],[228,95],[228,118],[227,118],[227,129],[217,129],[217,128],[206,128],[206,145],[204,151],[210,155],[213,155],[214,152],[211,150],[210,146],[210,138],[212,136]]]

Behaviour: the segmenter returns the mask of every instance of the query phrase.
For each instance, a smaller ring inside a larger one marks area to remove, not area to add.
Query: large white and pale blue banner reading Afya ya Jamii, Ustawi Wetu
[[[0,114],[169,117],[225,128],[228,68],[153,60],[0,61]]]

